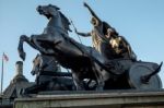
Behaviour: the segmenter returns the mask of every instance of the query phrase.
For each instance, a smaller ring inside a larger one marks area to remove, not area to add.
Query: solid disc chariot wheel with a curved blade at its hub
[[[143,83],[141,77],[143,75],[152,73],[153,70],[144,64],[136,63],[129,70],[128,82],[131,88],[136,89],[160,89],[162,88],[162,81],[157,74],[153,75],[149,82]]]

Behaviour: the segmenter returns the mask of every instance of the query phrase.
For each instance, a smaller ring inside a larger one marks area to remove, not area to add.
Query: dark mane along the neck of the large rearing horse
[[[66,17],[65,15],[63,15],[63,13],[61,13],[61,12],[59,12],[60,13],[60,15],[61,15],[61,22],[62,22],[62,24],[63,24],[63,27],[66,28],[66,31],[70,31],[70,22],[69,22],[69,20],[68,20],[68,17]]]

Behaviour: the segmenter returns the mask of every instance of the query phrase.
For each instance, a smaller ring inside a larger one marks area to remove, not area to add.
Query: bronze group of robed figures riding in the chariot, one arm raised
[[[95,12],[84,2],[84,7],[89,9],[92,14],[91,24],[93,31],[89,33],[80,33],[75,29],[78,35],[87,37],[92,36],[93,47],[99,51],[106,59],[132,59],[137,60],[137,56],[132,51],[130,44],[118,32],[112,27],[107,22],[102,21]]]

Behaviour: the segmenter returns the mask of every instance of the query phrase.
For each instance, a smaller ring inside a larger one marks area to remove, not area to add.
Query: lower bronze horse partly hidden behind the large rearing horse
[[[33,60],[32,75],[36,75],[35,84],[22,89],[21,94],[37,94],[44,91],[73,91],[71,73],[61,72],[54,57],[38,55]]]

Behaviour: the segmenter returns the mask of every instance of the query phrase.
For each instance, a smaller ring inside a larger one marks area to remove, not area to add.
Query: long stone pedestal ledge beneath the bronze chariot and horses
[[[17,98],[14,108],[164,108],[164,91],[55,92]]]

